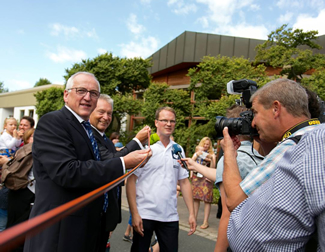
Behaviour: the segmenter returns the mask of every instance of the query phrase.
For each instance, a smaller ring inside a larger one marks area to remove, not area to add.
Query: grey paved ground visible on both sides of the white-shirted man
[[[188,211],[182,197],[178,198],[178,213],[180,218],[180,233],[179,233],[179,252],[188,251],[213,251],[217,237],[217,230],[219,219],[216,218],[217,205],[212,205],[211,214],[209,218],[210,227],[207,229],[200,229],[203,223],[203,204],[200,206],[198,215],[198,228],[195,235],[188,236]],[[128,204],[125,195],[125,188],[122,190],[122,218],[123,221],[119,224],[111,237],[111,252],[126,252],[130,251],[131,243],[123,241],[122,237],[127,227],[129,219]]]

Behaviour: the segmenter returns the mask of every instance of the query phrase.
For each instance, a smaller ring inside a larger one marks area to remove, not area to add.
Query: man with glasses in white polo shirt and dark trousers
[[[155,125],[160,138],[151,145],[152,157],[142,169],[128,178],[127,197],[134,228],[131,251],[147,252],[153,231],[155,231],[160,251],[178,250],[177,182],[189,210],[191,235],[196,230],[194,204],[188,172],[172,157],[174,141],[170,140],[176,113],[170,107],[156,111]],[[183,151],[184,155],[184,151]]]

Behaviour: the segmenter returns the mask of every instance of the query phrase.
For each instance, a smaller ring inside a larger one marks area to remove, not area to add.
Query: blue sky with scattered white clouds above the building
[[[0,0],[0,81],[9,91],[109,52],[147,58],[184,31],[267,39],[282,24],[325,34],[325,0]]]

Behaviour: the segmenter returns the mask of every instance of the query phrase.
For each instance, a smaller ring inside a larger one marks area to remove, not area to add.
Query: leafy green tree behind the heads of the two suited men
[[[149,66],[150,61],[148,59],[126,59],[106,53],[74,64],[70,69],[65,70],[64,78],[67,81],[71,75],[80,71],[93,73],[101,85],[101,93],[108,94],[114,99],[114,118],[117,120],[117,128],[110,130],[119,131],[121,119],[124,115],[137,114],[141,110],[141,101],[134,100],[132,92],[133,90],[146,89],[149,86],[150,75],[147,70]],[[59,97],[56,96],[58,92],[54,89],[43,92],[44,96],[38,95],[36,97],[40,116],[58,109],[57,105],[59,104],[63,105],[63,93]],[[52,96],[52,100],[47,100],[46,103],[41,100],[48,96]]]

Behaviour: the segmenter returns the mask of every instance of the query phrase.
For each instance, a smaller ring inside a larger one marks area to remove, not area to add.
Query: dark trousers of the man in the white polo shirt
[[[131,252],[148,252],[153,231],[158,239],[160,252],[178,251],[178,221],[160,222],[154,220],[142,220],[144,237],[137,232],[133,233]]]

